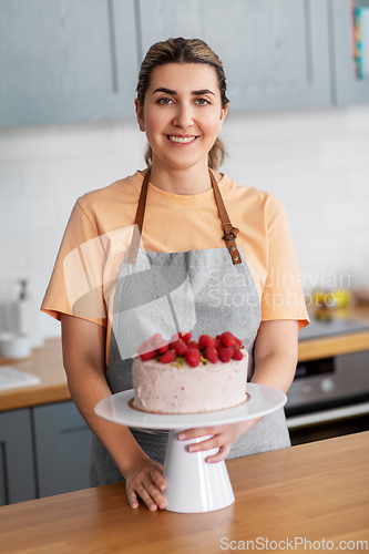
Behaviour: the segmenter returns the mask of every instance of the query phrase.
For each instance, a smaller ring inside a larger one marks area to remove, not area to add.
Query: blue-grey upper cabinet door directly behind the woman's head
[[[330,104],[326,0],[140,0],[142,54],[198,37],[224,63],[232,112]]]

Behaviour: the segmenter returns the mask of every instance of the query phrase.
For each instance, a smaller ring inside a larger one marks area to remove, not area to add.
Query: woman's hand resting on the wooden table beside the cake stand
[[[163,465],[150,460],[150,458],[141,460],[125,475],[125,480],[131,507],[139,507],[137,495],[151,511],[165,507],[165,499],[162,494],[166,489]]]

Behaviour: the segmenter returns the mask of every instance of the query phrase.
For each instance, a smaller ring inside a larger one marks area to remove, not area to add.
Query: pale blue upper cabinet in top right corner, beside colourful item
[[[369,0],[357,0],[356,4],[369,7]],[[329,20],[331,21],[332,100],[341,105],[369,102],[369,79],[358,79],[353,70],[350,0],[329,0]]]

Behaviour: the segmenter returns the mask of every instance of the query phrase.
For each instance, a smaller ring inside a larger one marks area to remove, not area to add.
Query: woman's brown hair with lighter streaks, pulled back
[[[222,107],[228,104],[229,100],[226,96],[226,79],[223,70],[223,64],[215,52],[199,39],[167,39],[163,42],[153,44],[142,64],[139,74],[136,86],[137,100],[141,107],[144,105],[145,93],[150,85],[151,73],[154,68],[165,65],[166,63],[204,63],[215,69],[218,85],[221,90]],[[221,138],[216,138],[212,150],[208,153],[208,165],[212,170],[218,170],[223,164],[225,156],[225,147]],[[148,145],[145,162],[147,165],[152,163],[152,148]]]

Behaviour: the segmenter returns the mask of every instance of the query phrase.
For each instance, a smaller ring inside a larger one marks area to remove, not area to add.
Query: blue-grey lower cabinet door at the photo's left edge
[[[0,413],[0,506],[37,497],[30,413]]]

